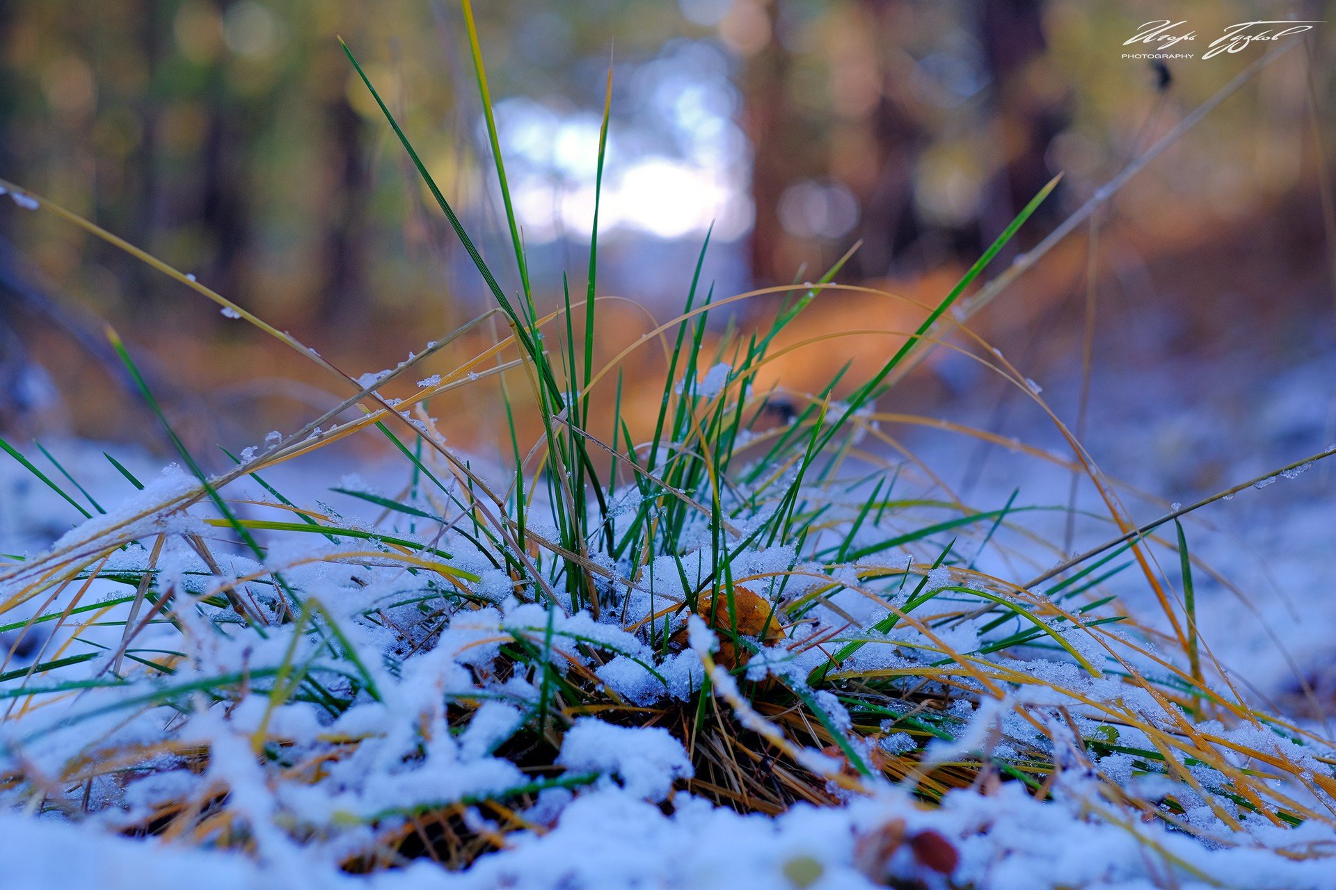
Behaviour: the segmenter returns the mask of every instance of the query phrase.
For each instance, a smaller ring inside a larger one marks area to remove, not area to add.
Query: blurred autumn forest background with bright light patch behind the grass
[[[1269,48],[1202,60],[1225,25],[1328,12],[1297,0],[476,8],[538,295],[557,303],[561,271],[584,290],[611,63],[599,291],[660,319],[680,307],[711,224],[716,296],[816,278],[860,240],[840,280],[935,302],[1054,173],[1065,173],[1058,192],[994,274]],[[1137,25],[1165,16],[1202,35],[1186,48],[1197,59],[1120,59]],[[1100,212],[1097,288],[1082,228],[979,330],[1027,367],[1070,370],[1075,355],[1079,372],[1097,290],[1097,352],[1133,364],[1240,343],[1264,344],[1281,364],[1328,348],[1333,33],[1319,25]],[[354,376],[393,366],[489,298],[337,36],[510,272],[449,0],[4,0],[0,176],[196,275]],[[51,213],[0,204],[7,435],[154,440],[107,358],[102,320],[211,442],[291,430],[291,415],[346,395],[123,252]],[[804,332],[896,311],[831,295]],[[633,308],[604,319],[612,339],[648,324]],[[884,348],[836,351],[855,358],[858,379]],[[782,371],[816,388],[836,368],[836,356],[810,355]],[[910,402],[974,380],[950,362],[918,379]],[[465,420],[485,404],[456,410],[466,415],[449,426],[464,440],[482,428]]]

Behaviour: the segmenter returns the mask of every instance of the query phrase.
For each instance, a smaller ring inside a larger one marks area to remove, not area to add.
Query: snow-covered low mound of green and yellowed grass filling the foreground
[[[83,454],[72,468],[96,475]],[[247,467],[267,474],[267,455]],[[287,482],[315,492],[330,475],[314,472]],[[403,491],[397,471],[362,472],[343,486],[354,506]],[[748,535],[780,512],[737,486],[720,496],[721,547],[693,512],[672,547],[589,560],[612,579],[596,618],[572,607],[569,562],[540,552],[517,580],[441,498],[403,500],[434,519],[317,504],[305,532],[270,498],[258,510],[285,524],[255,556],[183,506],[198,483],[179,470],[95,487],[106,515],[0,564],[16,622],[0,626],[41,640],[0,669],[0,801],[28,814],[3,817],[4,843],[87,850],[108,886],[207,867],[244,886],[413,890],[1288,887],[1331,866],[1336,758],[1319,726],[1240,705],[1226,674],[1193,682],[1172,639],[1083,588],[1098,571],[1035,594],[971,568],[915,530],[945,510],[971,538],[962,552],[1029,558],[1033,542],[931,498],[874,510],[802,488],[827,524],[763,546]],[[608,499],[657,508],[636,492]],[[9,528],[68,508],[13,504]],[[862,547],[904,543],[834,559],[855,527]],[[772,610],[775,634],[695,614],[729,584]],[[440,855],[465,870],[411,853],[424,825],[454,833]],[[167,839],[114,837],[146,831]],[[1297,849],[1315,858],[1277,855]],[[33,858],[20,874],[45,886]]]

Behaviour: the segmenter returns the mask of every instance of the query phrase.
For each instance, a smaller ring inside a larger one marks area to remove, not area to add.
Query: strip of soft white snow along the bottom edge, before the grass
[[[691,799],[664,815],[627,790],[607,787],[568,802],[550,831],[513,835],[510,849],[481,858],[464,873],[446,873],[424,861],[358,878],[339,874],[301,851],[291,851],[287,867],[275,873],[267,858],[257,862],[154,839],[108,837],[16,814],[0,814],[0,858],[5,883],[15,887],[762,890],[796,886],[784,875],[804,861],[818,873],[808,886],[871,889],[883,885],[860,870],[880,865],[868,862],[875,849],[870,841],[899,822],[907,833],[938,831],[957,847],[957,886],[1031,890],[1035,875],[1042,875],[1050,886],[1150,890],[1166,863],[1158,855],[1146,855],[1141,838],[1200,873],[1192,877],[1178,871],[1177,886],[1186,890],[1332,886],[1329,863],[1320,859],[1288,861],[1277,869],[1275,858],[1263,850],[1209,851],[1181,834],[1136,822],[1118,826],[1085,819],[1065,806],[1038,803],[1015,785],[1002,786],[994,795],[949,795],[939,810],[915,806],[896,793],[882,793],[843,807],[796,805],[774,819],[739,815]],[[903,873],[912,870],[903,861],[894,859],[892,865],[902,870],[900,879],[914,877]]]

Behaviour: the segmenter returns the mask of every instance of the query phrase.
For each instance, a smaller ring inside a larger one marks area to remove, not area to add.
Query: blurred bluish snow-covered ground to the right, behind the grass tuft
[[[1201,348],[1194,355],[1154,342],[1148,331],[1173,327],[1165,319],[1137,316],[1122,326],[1132,328],[1124,339],[1150,343],[1140,352],[1106,348],[1113,355],[1096,363],[1083,444],[1108,478],[1124,483],[1122,504],[1134,522],[1157,519],[1176,504],[1196,503],[1336,444],[1336,343],[1324,322],[1285,350],[1275,336],[1250,344],[1240,336],[1237,348]],[[974,363],[945,360],[942,372],[957,378],[961,395],[942,416],[1070,460],[1070,448],[1031,394],[1007,387],[999,410],[999,388]],[[1058,360],[1030,372],[1041,378],[1037,395],[1074,428],[1079,368]],[[908,430],[904,440],[978,510],[1001,507],[1017,490],[1018,504],[1065,508],[1069,502],[1070,474],[1042,460],[954,434]],[[1071,552],[1117,534],[1089,482],[1077,503],[1102,519],[1077,523]],[[1027,523],[1050,542],[1065,539],[1065,512]],[[1182,523],[1190,552],[1205,563],[1196,572],[1198,623],[1216,658],[1264,699],[1311,713],[1312,702],[1301,701],[1308,682],[1336,714],[1336,598],[1324,592],[1324,579],[1336,572],[1336,456],[1210,503]],[[1156,534],[1174,542],[1172,524]],[[1152,552],[1166,582],[1178,587],[1177,554]],[[1047,554],[1045,563],[1033,548],[1029,555],[1038,560],[1030,564],[1037,570],[1058,562]],[[1138,615],[1156,611],[1134,570],[1110,584]]]

